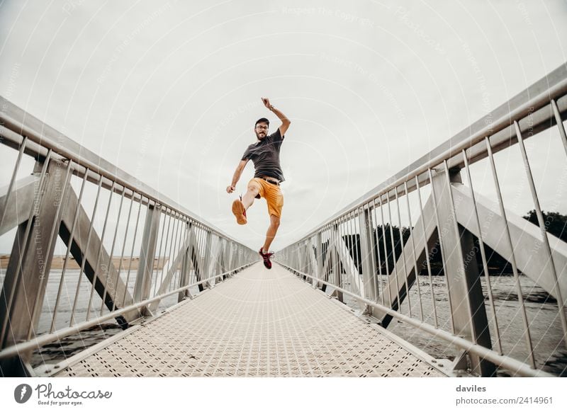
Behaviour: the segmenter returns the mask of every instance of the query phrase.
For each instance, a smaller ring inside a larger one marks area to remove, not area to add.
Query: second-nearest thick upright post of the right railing
[[[362,260],[362,278],[364,294],[366,299],[376,302],[377,294],[374,286],[376,285],[376,242],[374,241],[374,224],[370,209],[365,207],[359,214],[360,227],[360,253]]]

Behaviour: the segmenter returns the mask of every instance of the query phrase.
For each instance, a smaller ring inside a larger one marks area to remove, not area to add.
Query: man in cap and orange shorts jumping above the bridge
[[[257,120],[254,125],[254,132],[258,141],[250,144],[242,155],[242,160],[238,164],[232,183],[227,186],[227,193],[232,193],[236,189],[236,183],[240,179],[240,175],[250,159],[254,163],[254,178],[248,182],[248,190],[240,199],[232,202],[232,213],[236,216],[238,224],[246,224],[246,210],[254,203],[254,198],[264,198],[268,203],[268,214],[270,216],[270,227],[266,232],[266,241],[264,246],[260,248],[260,256],[264,259],[264,266],[271,269],[270,258],[274,253],[269,252],[271,242],[274,241],[276,232],[278,231],[279,221],[281,217],[281,208],[283,207],[283,195],[279,185],[285,179],[279,164],[279,149],[285,135],[291,124],[286,115],[271,105],[269,98],[262,98],[262,103],[278,116],[281,120],[280,127],[271,135],[268,135],[270,122],[266,118]]]

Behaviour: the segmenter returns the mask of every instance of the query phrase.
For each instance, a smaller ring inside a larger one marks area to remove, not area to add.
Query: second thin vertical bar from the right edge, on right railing
[[[551,268],[551,275],[554,280],[554,292],[556,293],[557,306],[559,310],[559,319],[561,320],[561,327],[563,328],[563,344],[567,348],[567,319],[565,317],[565,304],[563,301],[563,296],[561,290],[559,289],[559,280],[557,277],[557,271],[555,269],[554,258],[551,255],[551,247],[549,246],[549,239],[547,239],[547,231],[544,222],[544,214],[541,212],[541,206],[539,205],[539,198],[537,197],[536,186],[534,183],[534,176],[532,176],[532,168],[529,166],[529,160],[527,159],[526,147],[524,146],[524,139],[522,137],[522,132],[520,131],[520,125],[517,121],[514,121],[514,126],[516,128],[516,136],[518,143],[520,144],[520,151],[522,151],[522,159],[524,161],[524,168],[526,171],[526,176],[529,182],[529,190],[532,193],[532,200],[534,200],[534,206],[536,208],[537,221],[539,223],[539,231],[541,233],[541,240],[544,243],[544,250],[547,255],[549,266]]]

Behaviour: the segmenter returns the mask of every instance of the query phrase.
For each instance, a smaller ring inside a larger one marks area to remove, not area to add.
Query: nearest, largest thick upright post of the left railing
[[[34,174],[40,176],[43,166],[43,162],[36,162]],[[43,306],[59,234],[60,216],[57,216],[57,205],[62,201],[60,195],[71,177],[69,174],[65,179],[65,176],[64,164],[51,160],[45,170],[42,187],[42,179],[39,178],[34,188],[31,222],[26,220],[18,225],[0,295],[0,321],[7,326],[4,335],[0,336],[0,348],[27,341],[30,329],[35,331],[38,325],[40,311],[37,311],[35,319],[31,317],[36,305]],[[23,239],[28,223],[31,227],[27,230],[27,239]],[[10,302],[10,307],[7,307]],[[19,359],[2,360],[0,374],[5,377],[28,375],[27,362],[30,355],[21,353]]]

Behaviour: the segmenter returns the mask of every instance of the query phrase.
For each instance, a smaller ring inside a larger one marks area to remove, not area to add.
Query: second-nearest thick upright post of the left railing
[[[140,262],[136,274],[134,302],[141,302],[150,297],[161,209],[160,205],[147,206],[142,246],[140,247]]]

